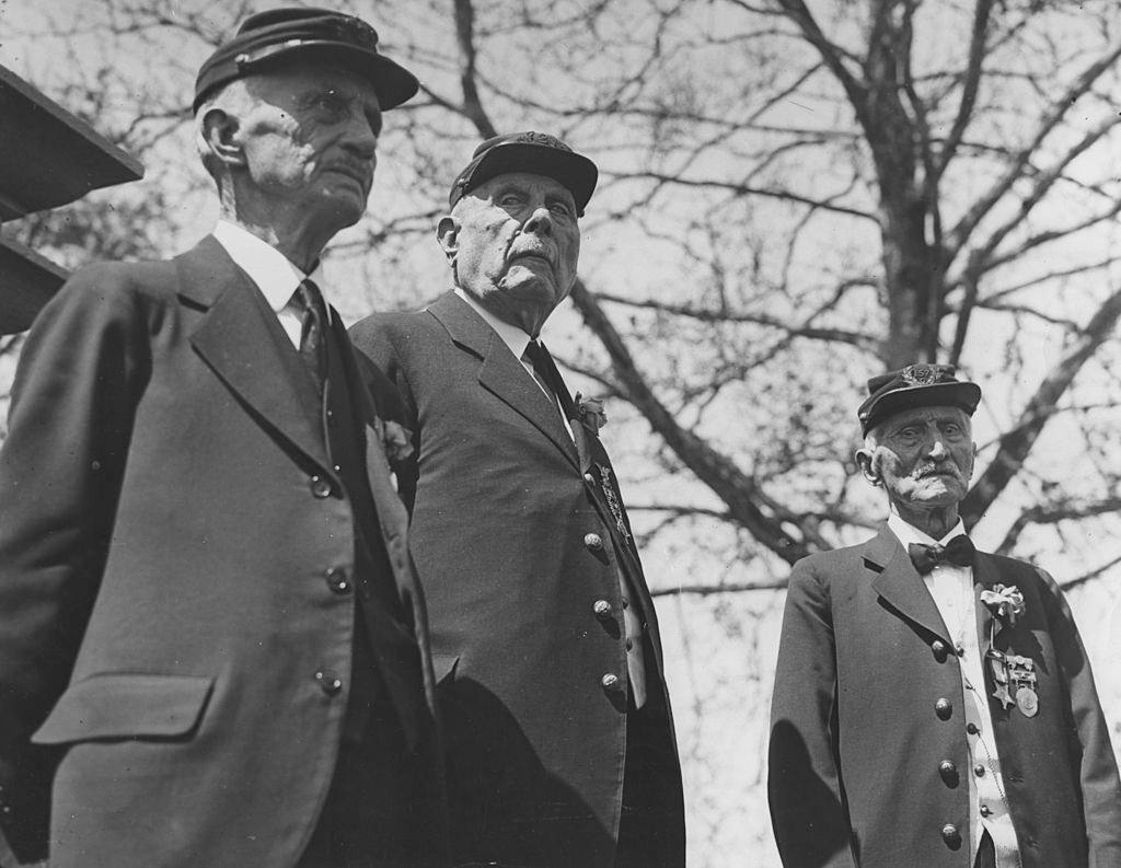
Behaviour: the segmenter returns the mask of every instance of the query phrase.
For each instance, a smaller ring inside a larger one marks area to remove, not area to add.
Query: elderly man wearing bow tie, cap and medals
[[[1121,784],[1063,594],[957,515],[981,398],[948,366],[869,381],[879,535],[799,561],[771,709],[787,868],[1119,868]]]

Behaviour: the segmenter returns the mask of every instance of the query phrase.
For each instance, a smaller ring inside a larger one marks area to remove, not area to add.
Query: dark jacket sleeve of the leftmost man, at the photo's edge
[[[44,855],[53,774],[28,739],[98,591],[143,367],[113,275],[76,275],[40,312],[0,447],[0,829],[22,860]]]

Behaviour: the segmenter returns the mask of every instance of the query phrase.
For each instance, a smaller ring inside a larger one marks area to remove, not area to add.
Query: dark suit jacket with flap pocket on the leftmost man
[[[346,354],[354,381],[377,381]],[[374,656],[395,700],[414,693],[396,702],[409,749],[435,758],[407,514],[374,399],[354,399],[402,619]],[[54,772],[53,868],[296,862],[332,781],[355,626],[336,581],[352,502],[319,414],[213,239],[84,269],[43,311],[0,451],[0,827],[22,858],[45,849]],[[435,818],[417,822],[438,841]]]

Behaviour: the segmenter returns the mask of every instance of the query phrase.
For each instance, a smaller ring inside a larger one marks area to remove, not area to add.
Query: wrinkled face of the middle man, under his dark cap
[[[544,175],[480,184],[441,222],[456,284],[499,318],[536,335],[576,281],[580,225],[572,193]]]

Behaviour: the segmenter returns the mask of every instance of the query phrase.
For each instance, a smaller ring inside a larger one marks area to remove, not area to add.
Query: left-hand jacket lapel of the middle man
[[[454,293],[437,298],[428,312],[447,330],[452,340],[482,359],[479,385],[509,405],[548,437],[580,469],[576,446],[565,431],[560,412],[534,378],[471,306]]]

